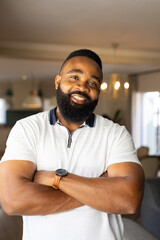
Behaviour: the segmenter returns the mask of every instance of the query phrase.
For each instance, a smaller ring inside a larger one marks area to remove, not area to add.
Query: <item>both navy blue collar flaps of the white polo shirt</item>
[[[57,116],[56,116],[56,109],[57,109],[57,107],[55,107],[49,111],[49,122],[51,125],[54,125],[58,120]],[[95,114],[92,113],[91,116],[86,120],[85,123],[89,127],[94,127],[94,122],[95,122]]]

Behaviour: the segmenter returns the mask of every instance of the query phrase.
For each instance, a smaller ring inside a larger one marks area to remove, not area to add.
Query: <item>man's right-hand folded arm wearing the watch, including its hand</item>
[[[55,172],[40,171],[36,182],[51,186]],[[142,167],[136,163],[118,163],[98,178],[68,174],[60,180],[59,188],[82,204],[99,211],[115,214],[132,214],[138,209],[144,187]]]

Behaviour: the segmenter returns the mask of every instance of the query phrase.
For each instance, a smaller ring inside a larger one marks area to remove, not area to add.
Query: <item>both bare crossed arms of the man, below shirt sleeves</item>
[[[9,215],[47,215],[88,205],[99,211],[132,214],[138,209],[144,174],[136,163],[118,163],[98,178],[69,173],[60,190],[52,188],[55,171],[36,171],[30,161],[0,164],[0,200]]]

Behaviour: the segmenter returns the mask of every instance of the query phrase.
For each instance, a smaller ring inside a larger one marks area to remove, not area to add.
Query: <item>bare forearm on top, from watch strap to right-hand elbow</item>
[[[125,177],[84,178],[69,174],[60,181],[60,189],[69,196],[99,211],[117,214],[133,213],[137,208],[130,187]]]

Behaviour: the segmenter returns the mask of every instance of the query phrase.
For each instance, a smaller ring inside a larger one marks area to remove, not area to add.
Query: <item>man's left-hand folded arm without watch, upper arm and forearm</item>
[[[60,190],[33,182],[35,171],[30,161],[0,164],[0,200],[9,215],[47,215],[83,205]]]

